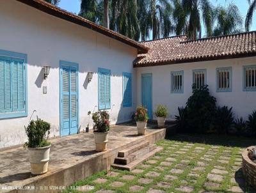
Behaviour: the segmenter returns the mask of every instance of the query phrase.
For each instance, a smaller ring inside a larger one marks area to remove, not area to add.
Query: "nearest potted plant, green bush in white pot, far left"
[[[24,148],[28,148],[29,162],[32,174],[44,174],[48,170],[51,143],[48,141],[50,134],[50,123],[39,118],[31,120],[28,127],[25,127],[28,135],[28,142]]]

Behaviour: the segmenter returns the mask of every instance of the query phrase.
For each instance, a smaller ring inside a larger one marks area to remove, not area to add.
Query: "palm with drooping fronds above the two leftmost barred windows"
[[[212,35],[214,13],[209,0],[175,0],[174,4],[173,20],[176,23],[175,32],[177,35],[185,31],[189,39],[201,38],[201,22],[205,26],[207,36]]]

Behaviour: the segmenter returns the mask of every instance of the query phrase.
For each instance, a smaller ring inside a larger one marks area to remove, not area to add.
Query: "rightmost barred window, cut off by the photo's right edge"
[[[256,91],[256,65],[243,67],[243,90]]]

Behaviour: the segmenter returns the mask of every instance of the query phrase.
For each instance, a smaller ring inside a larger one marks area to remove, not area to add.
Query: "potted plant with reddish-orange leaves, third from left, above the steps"
[[[137,108],[135,113],[135,120],[138,129],[138,135],[144,135],[147,128],[148,114],[147,109],[143,106]]]

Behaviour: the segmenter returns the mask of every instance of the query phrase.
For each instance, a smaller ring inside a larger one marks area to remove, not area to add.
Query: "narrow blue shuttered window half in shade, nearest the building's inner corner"
[[[123,73],[123,107],[132,106],[132,74]]]

